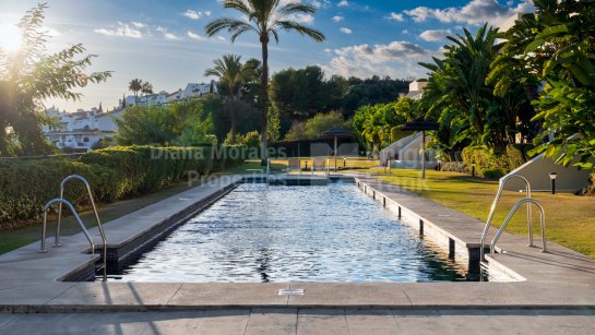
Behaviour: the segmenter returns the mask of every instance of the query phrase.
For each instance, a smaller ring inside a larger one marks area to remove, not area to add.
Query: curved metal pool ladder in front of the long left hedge
[[[99,213],[97,212],[97,206],[95,205],[95,200],[93,199],[93,193],[91,192],[91,186],[88,184],[88,181],[86,181],[85,178],[83,178],[83,177],[81,177],[79,175],[71,175],[71,176],[68,176],[67,178],[64,178],[64,180],[62,180],[62,182],[60,183],[60,198],[53,199],[53,200],[49,201],[45,205],[45,207],[44,207],[44,228],[41,230],[41,248],[39,249],[39,252],[47,252],[47,249],[46,249],[46,226],[47,226],[48,211],[51,207],[51,205],[53,205],[55,203],[59,203],[59,207],[58,207],[58,225],[56,226],[56,238],[55,238],[53,247],[60,247],[61,246],[60,244],[60,225],[61,225],[61,222],[62,222],[62,204],[66,204],[67,206],[70,207],[70,211],[74,215],[74,218],[76,219],[76,222],[79,223],[79,226],[81,226],[81,228],[83,230],[83,234],[87,238],[87,240],[88,240],[88,242],[91,244],[92,254],[95,254],[95,243],[93,242],[93,239],[88,235],[88,230],[86,229],[85,225],[81,220],[81,217],[76,213],[76,210],[74,208],[74,206],[69,201],[64,200],[64,186],[67,184],[67,182],[69,180],[72,180],[72,179],[78,179],[78,180],[82,181],[85,184],[87,193],[88,193],[88,199],[91,200],[91,205],[93,206],[93,212],[95,214],[95,219],[97,222],[97,229],[99,229],[99,234],[102,236],[102,241],[104,242],[104,252],[103,252],[103,256],[104,256],[104,282],[106,282],[107,280],[107,240],[106,240],[106,235],[105,235],[105,231],[104,231],[104,227],[102,226],[102,220],[99,219]]]

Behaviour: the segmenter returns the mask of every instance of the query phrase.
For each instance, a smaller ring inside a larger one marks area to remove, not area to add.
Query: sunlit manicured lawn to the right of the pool
[[[380,170],[377,169],[377,171]],[[420,178],[419,170],[393,169],[391,176],[379,175],[379,178],[481,222],[486,222],[498,191],[498,181],[475,179],[457,172],[429,170],[426,171],[424,180]],[[524,196],[525,194],[521,192],[504,191],[492,225],[500,227],[511,207]],[[595,258],[595,198],[546,192],[534,193],[533,198],[538,200],[545,208],[548,240]],[[513,220],[508,225],[507,231],[527,236],[525,213],[524,206],[519,208]],[[539,237],[538,210],[534,207],[533,213],[534,235]]]

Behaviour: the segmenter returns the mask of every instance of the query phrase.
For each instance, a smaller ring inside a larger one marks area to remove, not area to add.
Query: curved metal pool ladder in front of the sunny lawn
[[[488,235],[489,227],[491,225],[491,220],[493,218],[493,214],[496,213],[496,206],[498,205],[498,202],[500,201],[500,196],[502,195],[502,191],[504,189],[505,183],[510,179],[513,179],[513,178],[517,178],[517,179],[521,179],[521,180],[524,181],[526,198],[520,200],[519,202],[516,202],[516,204],[514,204],[514,206],[512,206],[512,210],[510,211],[509,215],[504,219],[504,223],[498,229],[498,231],[496,232],[496,236],[491,240],[490,254],[493,253],[495,248],[496,248],[496,242],[498,241],[498,239],[500,238],[500,236],[502,235],[502,232],[507,228],[507,225],[511,220],[514,213],[516,213],[516,210],[519,210],[519,207],[521,205],[525,204],[525,203],[527,204],[528,247],[533,247],[533,225],[532,225],[532,222],[531,222],[531,204],[535,204],[539,208],[539,216],[540,216],[540,224],[542,224],[542,242],[543,242],[542,252],[547,251],[547,248],[546,248],[546,222],[545,222],[546,217],[545,217],[544,206],[542,206],[542,204],[537,200],[531,198],[531,184],[529,184],[528,180],[525,177],[523,177],[521,175],[509,175],[509,176],[504,176],[504,177],[502,177],[500,179],[500,186],[498,188],[498,193],[496,194],[496,198],[493,199],[493,203],[491,204],[491,208],[490,208],[490,212],[489,212],[489,215],[488,215],[488,219],[486,220],[484,231],[481,232],[481,248],[479,249],[479,254],[480,254],[479,261],[483,264],[485,264],[485,261],[486,261],[485,252],[484,252],[485,242],[486,242],[486,238],[487,238],[487,235]]]

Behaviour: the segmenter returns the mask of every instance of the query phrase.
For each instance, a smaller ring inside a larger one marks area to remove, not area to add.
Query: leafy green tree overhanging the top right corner
[[[540,83],[538,95],[527,89],[535,99],[533,120],[543,121],[534,153],[564,166],[595,168],[595,7],[593,1],[534,2],[535,14],[523,15],[504,35],[508,43],[492,69],[497,88]]]

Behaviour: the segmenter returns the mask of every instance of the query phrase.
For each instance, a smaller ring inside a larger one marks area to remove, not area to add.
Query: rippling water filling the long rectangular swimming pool
[[[243,183],[122,272],[123,282],[438,282],[465,266],[353,183]]]

